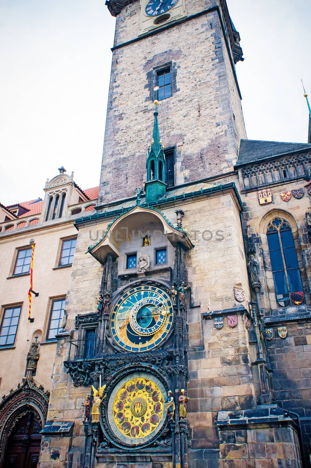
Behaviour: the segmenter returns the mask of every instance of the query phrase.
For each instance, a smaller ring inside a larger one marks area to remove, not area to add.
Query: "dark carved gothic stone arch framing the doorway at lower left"
[[[0,468],[6,455],[7,439],[13,431],[15,424],[26,414],[33,413],[39,421],[41,429],[46,422],[50,393],[44,392],[42,385],[32,380],[18,384],[15,390],[11,389],[9,395],[3,395],[0,403]]]

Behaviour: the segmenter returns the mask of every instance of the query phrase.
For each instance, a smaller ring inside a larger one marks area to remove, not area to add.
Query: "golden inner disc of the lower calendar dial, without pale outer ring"
[[[137,377],[118,389],[112,409],[118,430],[131,439],[142,439],[160,424],[164,399],[155,382]]]

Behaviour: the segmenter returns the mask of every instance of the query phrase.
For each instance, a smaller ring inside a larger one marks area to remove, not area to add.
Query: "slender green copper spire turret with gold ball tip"
[[[155,92],[158,87],[155,88]],[[153,125],[152,142],[148,146],[147,154],[147,182],[145,183],[146,203],[152,204],[165,195],[165,154],[162,144],[158,124],[158,101],[155,99],[156,106],[154,111],[155,121]]]

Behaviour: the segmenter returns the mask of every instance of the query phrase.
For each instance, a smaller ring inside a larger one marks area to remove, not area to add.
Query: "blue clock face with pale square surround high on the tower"
[[[186,15],[185,0],[141,0],[140,35]]]

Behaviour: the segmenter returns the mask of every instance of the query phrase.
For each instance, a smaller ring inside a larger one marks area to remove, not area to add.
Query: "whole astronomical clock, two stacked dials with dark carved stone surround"
[[[135,213],[141,222],[151,217],[154,225],[163,217],[152,208],[136,207]],[[82,344],[65,366],[74,385],[93,385],[94,395],[84,403],[91,409],[84,424],[87,447],[99,461],[118,453],[134,461],[147,451],[165,462],[185,452],[187,424],[185,412],[179,415],[178,399],[187,383],[186,306],[191,290],[185,268],[190,244],[184,234],[181,239],[160,247],[155,240],[153,247],[152,234],[146,234],[133,245],[121,242],[118,256],[104,252],[104,241],[101,249],[91,248],[101,261],[105,256],[101,294],[94,313],[76,316]],[[153,249],[160,252],[157,257]]]

